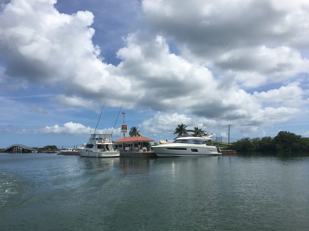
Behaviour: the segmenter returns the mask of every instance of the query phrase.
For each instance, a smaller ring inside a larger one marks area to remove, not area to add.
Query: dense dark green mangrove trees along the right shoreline
[[[309,138],[280,131],[275,137],[242,138],[230,145],[236,151],[309,151]]]

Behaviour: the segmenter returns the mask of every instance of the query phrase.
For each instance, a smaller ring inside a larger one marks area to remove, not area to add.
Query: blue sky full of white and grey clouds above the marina
[[[307,0],[0,4],[0,148],[117,140],[121,112],[156,142],[309,136]]]

